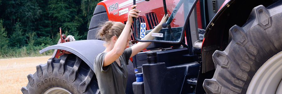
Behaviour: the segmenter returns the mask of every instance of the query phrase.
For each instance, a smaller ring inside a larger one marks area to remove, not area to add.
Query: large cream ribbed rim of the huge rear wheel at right
[[[282,51],[267,60],[254,74],[247,94],[282,94]]]

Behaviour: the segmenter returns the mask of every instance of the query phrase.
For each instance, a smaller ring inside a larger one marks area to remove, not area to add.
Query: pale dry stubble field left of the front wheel
[[[51,56],[0,59],[0,94],[22,94],[27,75],[36,72],[36,65],[45,64]]]

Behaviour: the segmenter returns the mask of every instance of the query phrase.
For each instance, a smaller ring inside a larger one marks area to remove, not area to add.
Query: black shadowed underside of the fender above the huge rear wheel
[[[268,7],[278,0],[230,0],[218,11],[207,25],[202,43],[202,73],[214,70],[212,54],[216,50],[225,50],[229,38],[229,29],[235,24],[242,27],[252,11],[259,5]]]

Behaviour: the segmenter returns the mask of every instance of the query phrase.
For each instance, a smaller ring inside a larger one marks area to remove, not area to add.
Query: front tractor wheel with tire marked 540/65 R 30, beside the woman
[[[50,58],[46,64],[37,65],[36,70],[27,76],[29,83],[22,87],[23,94],[100,93],[93,70],[74,54]]]

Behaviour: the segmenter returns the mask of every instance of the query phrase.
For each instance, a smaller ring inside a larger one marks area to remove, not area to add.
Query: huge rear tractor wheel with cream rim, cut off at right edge
[[[212,55],[216,71],[204,81],[207,94],[282,94],[282,2],[253,8],[229,44]]]

